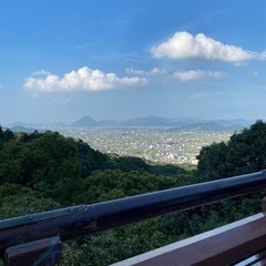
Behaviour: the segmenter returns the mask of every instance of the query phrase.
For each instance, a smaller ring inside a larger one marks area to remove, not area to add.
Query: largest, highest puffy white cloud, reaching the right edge
[[[252,59],[266,59],[265,53],[256,53],[244,50],[241,47],[224,44],[203,33],[192,35],[186,31],[176,32],[167,41],[153,47],[151,53],[156,59],[217,60],[235,64],[241,64]]]

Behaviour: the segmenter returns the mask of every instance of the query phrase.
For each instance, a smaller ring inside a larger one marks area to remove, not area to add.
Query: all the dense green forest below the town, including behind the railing
[[[266,167],[266,124],[204,146],[197,168],[94,151],[58,132],[0,127],[0,218],[188,185]],[[223,201],[64,244],[62,265],[108,265],[259,212],[262,194]]]

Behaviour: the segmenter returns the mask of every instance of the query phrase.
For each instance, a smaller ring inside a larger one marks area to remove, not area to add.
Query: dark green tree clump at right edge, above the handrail
[[[257,121],[249,129],[231,136],[227,143],[213,143],[201,150],[197,175],[201,181],[229,177],[266,167],[266,123]]]

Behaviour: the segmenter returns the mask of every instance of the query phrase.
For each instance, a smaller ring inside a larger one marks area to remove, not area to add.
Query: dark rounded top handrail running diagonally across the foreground
[[[0,253],[13,245],[59,235],[90,235],[266,187],[266,172],[227,177],[114,201],[37,213],[0,222]],[[18,237],[19,236],[19,237]]]

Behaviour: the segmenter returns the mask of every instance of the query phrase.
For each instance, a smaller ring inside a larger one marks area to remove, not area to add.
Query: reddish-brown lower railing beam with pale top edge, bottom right
[[[266,217],[256,214],[112,266],[266,265]]]

